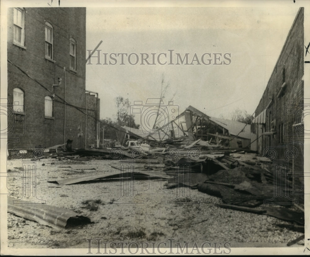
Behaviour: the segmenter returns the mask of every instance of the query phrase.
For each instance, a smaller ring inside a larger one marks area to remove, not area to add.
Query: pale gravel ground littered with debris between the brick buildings
[[[25,161],[25,160],[24,160]],[[92,170],[72,170],[70,164],[87,164]],[[165,179],[135,179],[136,204],[121,203],[120,180],[100,180],[71,185],[49,183],[57,179],[115,172],[117,160],[87,162],[41,159],[36,162],[37,197],[48,205],[73,210],[87,216],[93,223],[68,229],[40,225],[10,213],[7,214],[8,247],[11,248],[87,248],[86,239],[104,242],[229,242],[232,247],[286,246],[302,233],[275,224],[290,224],[280,219],[223,209],[218,197],[189,189],[190,196],[177,196],[180,188],[167,190]],[[136,162],[143,167],[144,161]],[[151,163],[159,166],[156,160]],[[21,160],[7,160],[7,187],[11,196],[20,198]],[[20,171],[19,175],[12,171]],[[131,198],[131,200],[134,198]],[[27,199],[23,199],[27,200]],[[93,202],[85,201],[94,200]],[[194,201],[195,200],[195,201]],[[181,204],[180,202],[187,202]],[[198,203],[192,203],[192,202]],[[95,242],[92,242],[93,244]],[[303,241],[294,246],[301,246]]]

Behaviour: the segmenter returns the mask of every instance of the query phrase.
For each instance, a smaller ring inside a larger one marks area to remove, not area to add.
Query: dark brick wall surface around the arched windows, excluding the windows
[[[24,10],[26,49],[13,44],[13,8],[8,9],[7,58],[42,86],[8,62],[8,101],[13,104],[13,89],[18,87],[24,91],[25,106],[24,115],[15,114],[13,118],[13,134],[24,135],[16,136],[19,142],[10,143],[8,148],[17,145],[50,147],[63,144],[67,139],[73,140],[73,148],[85,147],[86,116],[69,104],[86,109],[86,8]],[[45,58],[45,22],[53,26],[53,61]],[[70,38],[76,41],[76,71],[70,70]],[[54,87],[53,119],[48,119],[44,116],[44,97],[52,95],[48,90],[58,84],[57,78],[62,81],[60,86]],[[65,105],[64,99],[69,104]],[[79,125],[84,132],[81,137]]]

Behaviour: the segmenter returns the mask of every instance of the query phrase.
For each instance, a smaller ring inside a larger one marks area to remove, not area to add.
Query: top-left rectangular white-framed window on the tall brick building
[[[13,39],[14,43],[24,46],[25,45],[25,12],[21,8],[14,8],[13,11]]]

